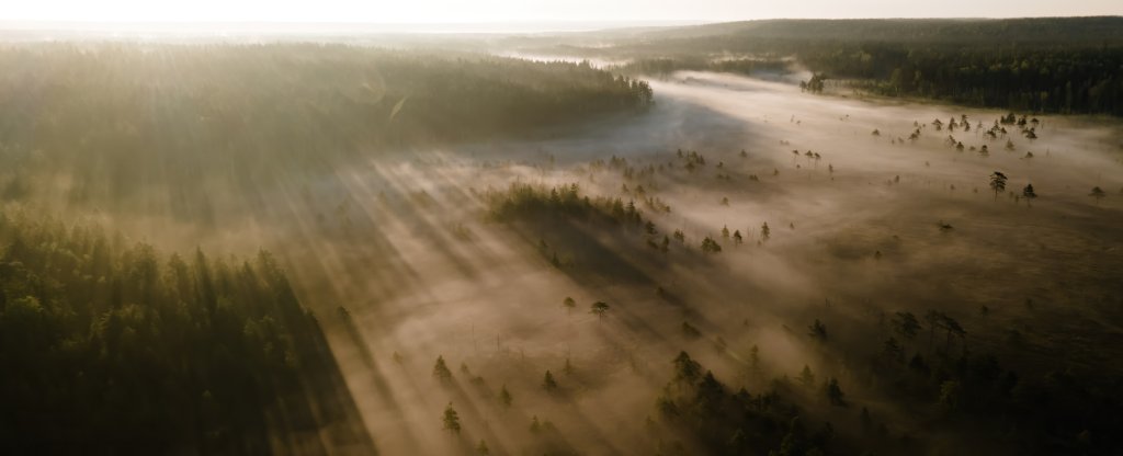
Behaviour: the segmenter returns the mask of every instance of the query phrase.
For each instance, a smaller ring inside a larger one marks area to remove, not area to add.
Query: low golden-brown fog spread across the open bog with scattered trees
[[[584,454],[650,453],[645,419],[679,350],[754,392],[810,365],[907,431],[917,426],[909,411],[878,402],[833,361],[836,350],[880,344],[867,337],[887,331],[879,312],[939,309],[969,329],[975,346],[1017,328],[1031,346],[1051,340],[1070,354],[1025,350],[1008,361],[1021,366],[1048,359],[1079,370],[1120,355],[1117,344],[1093,350],[1087,340],[1054,338],[1063,319],[1123,335],[1103,318],[1106,307],[1070,305],[1121,286],[1111,282],[1123,267],[1114,120],[1046,116],[1037,139],[1015,125],[987,139],[1004,112],[815,95],[727,74],[650,83],[656,106],[646,115],[539,142],[356,163],[320,183],[220,206],[217,235],[167,220],[135,225],[182,231],[188,247],[259,239],[283,256],[387,455],[448,454],[449,403],[464,440],[484,439],[492,454],[524,448],[533,417]],[[949,131],[949,119],[965,115],[970,130]],[[696,151],[704,165],[687,170],[679,149]],[[611,166],[613,156],[627,165]],[[988,186],[995,171],[1008,176],[997,193]],[[513,182],[577,183],[591,197],[633,199],[658,234],[492,220],[483,194]],[[1039,195],[1031,201],[1022,198],[1029,183]],[[1089,197],[1094,186],[1106,198]],[[743,244],[724,238],[723,227]],[[646,244],[678,229],[685,244],[672,240],[667,253]],[[701,253],[706,236],[720,253]],[[544,241],[560,267],[539,252]],[[575,309],[563,305],[567,297]],[[610,304],[602,318],[590,312],[596,301]],[[806,337],[814,319],[830,329],[829,347]],[[701,337],[684,334],[684,322]],[[754,345],[763,377],[747,374]],[[453,387],[432,376],[438,356]],[[544,391],[547,371],[560,394]],[[510,410],[495,399],[503,387]]]

